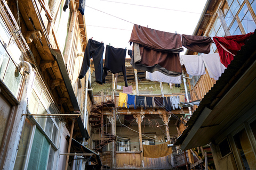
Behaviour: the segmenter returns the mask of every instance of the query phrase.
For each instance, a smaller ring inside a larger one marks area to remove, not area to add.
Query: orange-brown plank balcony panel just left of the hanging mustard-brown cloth
[[[116,165],[118,168],[140,168],[140,153],[116,153]]]

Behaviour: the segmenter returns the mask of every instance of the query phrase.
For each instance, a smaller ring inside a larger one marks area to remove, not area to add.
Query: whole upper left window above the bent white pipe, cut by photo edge
[[[0,79],[18,98],[23,76],[18,72],[21,51],[7,29],[3,19],[0,17]],[[15,76],[15,71],[18,73]]]

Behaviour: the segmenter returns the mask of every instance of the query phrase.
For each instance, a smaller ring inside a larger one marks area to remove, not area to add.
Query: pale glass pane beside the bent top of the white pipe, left
[[[4,75],[4,80],[3,82],[6,84],[6,86],[10,89],[12,94],[18,98],[19,95],[19,90],[20,90],[20,85],[23,76],[21,74],[18,75],[18,77],[15,77],[15,69],[17,67],[14,65],[14,63],[10,60],[6,73]]]

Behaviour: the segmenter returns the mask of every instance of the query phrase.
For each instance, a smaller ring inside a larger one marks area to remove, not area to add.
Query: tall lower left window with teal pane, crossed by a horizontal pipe
[[[28,110],[33,114],[58,113],[47,96],[43,81],[36,78],[29,99]],[[23,126],[14,169],[54,169],[57,151],[59,120],[51,116],[26,119]]]

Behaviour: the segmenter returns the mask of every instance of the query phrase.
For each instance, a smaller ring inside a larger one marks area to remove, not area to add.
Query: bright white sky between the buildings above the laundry
[[[105,49],[109,44],[115,48],[132,49],[129,40],[133,24],[192,35],[205,3],[206,0],[86,0],[87,37],[102,41]],[[185,52],[184,48],[180,55]]]

